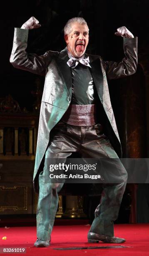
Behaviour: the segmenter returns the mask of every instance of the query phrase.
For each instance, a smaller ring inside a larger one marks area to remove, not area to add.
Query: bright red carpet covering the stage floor
[[[149,224],[115,225],[114,235],[127,240],[126,243],[122,244],[87,243],[88,230],[89,225],[55,226],[50,247],[35,248],[33,247],[36,240],[35,227],[0,228],[0,248],[24,247],[27,248],[27,253],[21,254],[27,256],[149,255]],[[7,237],[7,240],[2,240],[4,236]],[[56,250],[56,248],[67,248],[67,250]],[[21,255],[20,253],[5,253],[3,255],[18,254]]]

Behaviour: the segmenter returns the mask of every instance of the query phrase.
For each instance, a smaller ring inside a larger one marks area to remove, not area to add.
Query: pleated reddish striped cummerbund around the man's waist
[[[96,123],[96,105],[70,105],[61,120],[70,125],[94,125]]]

